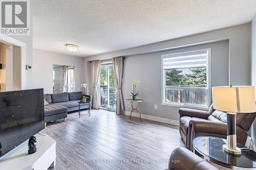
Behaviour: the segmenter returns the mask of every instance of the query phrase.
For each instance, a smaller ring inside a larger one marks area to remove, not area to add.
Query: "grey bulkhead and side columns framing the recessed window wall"
[[[90,64],[88,63],[88,61],[98,59],[109,59],[117,56],[136,56],[138,54],[152,53],[172,48],[191,46],[196,44],[228,39],[230,58],[230,84],[249,85],[251,38],[250,29],[251,25],[250,23],[247,23],[244,25],[229,27],[221,30],[129,48],[126,50],[116,51],[112,53],[105,53],[101,55],[86,57],[84,58],[86,82],[90,82]],[[88,88],[88,90],[88,92],[90,92],[90,88]]]

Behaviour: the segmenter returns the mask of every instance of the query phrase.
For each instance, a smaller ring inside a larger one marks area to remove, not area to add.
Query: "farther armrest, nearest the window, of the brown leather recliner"
[[[180,113],[180,117],[189,116],[189,117],[198,117],[203,119],[207,119],[210,115],[209,111],[188,109],[188,108],[180,108],[179,113]]]

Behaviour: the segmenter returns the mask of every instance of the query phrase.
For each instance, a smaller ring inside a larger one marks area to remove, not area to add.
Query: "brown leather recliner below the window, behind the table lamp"
[[[180,108],[180,135],[190,151],[193,140],[198,136],[215,136],[227,138],[226,112],[215,110],[211,105],[209,111]],[[237,142],[245,144],[248,131],[256,113],[237,114]]]

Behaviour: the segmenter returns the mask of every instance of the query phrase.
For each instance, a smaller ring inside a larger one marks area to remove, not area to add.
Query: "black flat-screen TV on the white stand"
[[[0,92],[0,157],[45,128],[43,89]]]

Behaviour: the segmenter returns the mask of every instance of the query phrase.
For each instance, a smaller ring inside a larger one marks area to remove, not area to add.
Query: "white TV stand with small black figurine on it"
[[[46,170],[56,163],[56,141],[49,135],[36,136],[37,152],[28,154],[28,140],[0,158],[0,169]]]

